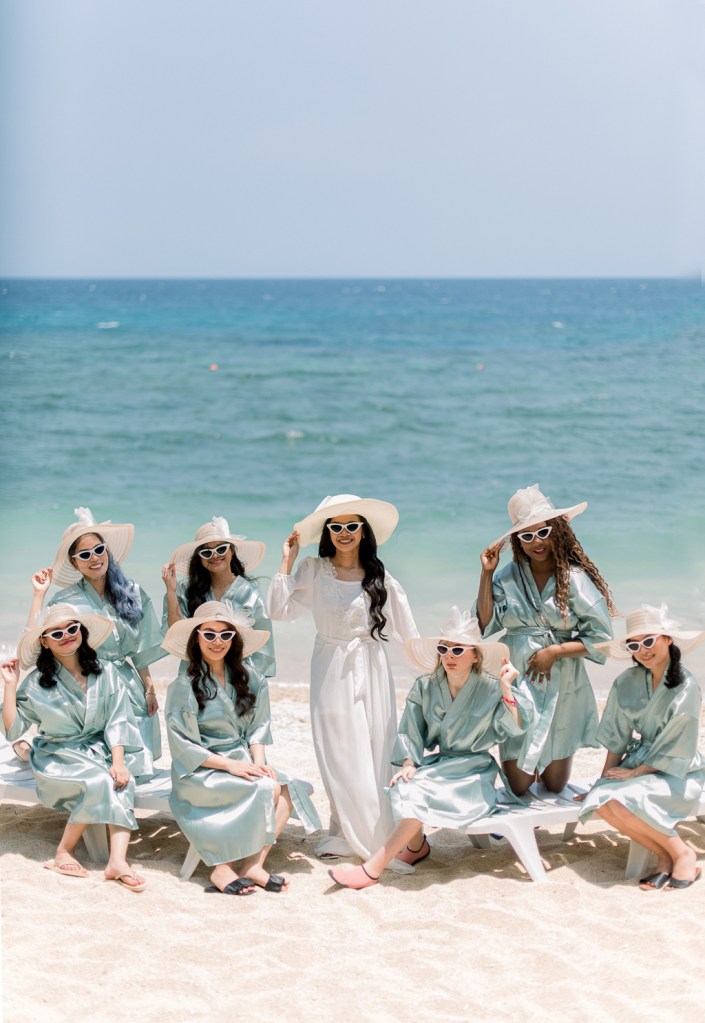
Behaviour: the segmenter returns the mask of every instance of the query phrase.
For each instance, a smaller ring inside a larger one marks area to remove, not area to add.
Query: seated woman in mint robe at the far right
[[[628,616],[623,640],[599,644],[611,657],[631,657],[634,666],[610,692],[598,730],[608,750],[605,766],[580,819],[597,813],[656,854],[656,872],[640,882],[645,891],[689,888],[701,874],[675,826],[694,812],[705,785],[700,686],[680,664],[681,653],[703,639],[705,632],[684,632],[669,620],[665,605],[643,605]]]

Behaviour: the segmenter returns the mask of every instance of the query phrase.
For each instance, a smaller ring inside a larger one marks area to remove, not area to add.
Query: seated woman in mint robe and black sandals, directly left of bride
[[[206,891],[249,895],[289,882],[264,861],[292,810],[308,832],[320,828],[300,782],[265,761],[269,730],[266,679],[243,659],[267,642],[240,611],[217,601],[172,625],[164,647],[184,661],[167,695],[174,817],[213,868]]]

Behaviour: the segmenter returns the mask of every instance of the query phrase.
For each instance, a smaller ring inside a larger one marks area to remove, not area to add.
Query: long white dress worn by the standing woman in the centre
[[[399,583],[385,574],[385,586],[384,631],[402,643],[418,630]],[[311,730],[331,824],[316,853],[366,859],[394,828],[384,792],[397,726],[389,643],[369,635],[369,598],[361,582],[339,579],[327,558],[306,558],[293,576],[277,573],[266,606],[277,621],[310,611],[318,632],[311,658]]]

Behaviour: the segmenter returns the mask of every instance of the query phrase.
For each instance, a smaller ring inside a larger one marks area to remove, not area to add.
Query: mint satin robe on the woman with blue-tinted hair
[[[162,632],[151,601],[136,582],[132,585],[135,593],[139,595],[144,612],[144,617],[136,625],[130,625],[129,622],[119,618],[113,605],[108,601],[103,601],[85,579],[79,579],[77,583],[60,589],[51,597],[49,604],[73,604],[78,611],[102,615],[103,618],[112,620],[113,632],[100,647],[98,657],[101,661],[111,661],[123,680],[142,743],[149,754],[145,758],[144,773],[151,774],[152,759],[157,760],[162,756],[162,733],[159,716],[152,714],[150,717],[147,713],[144,685],[138,670],[148,667],[167,655],[162,648]]]

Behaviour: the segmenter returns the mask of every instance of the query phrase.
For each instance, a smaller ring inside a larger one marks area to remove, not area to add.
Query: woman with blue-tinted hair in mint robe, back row
[[[87,614],[111,620],[113,628],[101,657],[115,664],[127,688],[147,754],[144,773],[150,774],[152,760],[162,755],[162,737],[149,666],[165,653],[149,596],[120,567],[132,546],[134,526],[96,524],[90,508],[77,508],[76,515],[78,522],[64,530],[53,568],[42,569],[32,579],[30,624],[52,582],[62,588],[51,597],[49,606],[72,604]]]

